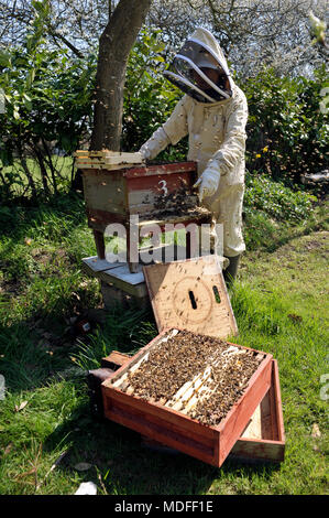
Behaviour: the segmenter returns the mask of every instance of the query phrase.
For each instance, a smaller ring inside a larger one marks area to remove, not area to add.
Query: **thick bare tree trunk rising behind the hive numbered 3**
[[[152,0],[120,0],[100,36],[90,150],[120,151],[129,53]]]

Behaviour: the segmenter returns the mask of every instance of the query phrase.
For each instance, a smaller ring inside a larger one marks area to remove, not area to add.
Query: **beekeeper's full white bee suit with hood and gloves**
[[[244,94],[230,76],[223,53],[212,34],[199,28],[185,45],[190,41],[198,42],[200,48],[206,48],[217,58],[229,79],[230,88],[217,88],[212,93],[207,89],[202,97],[202,93],[199,94],[200,90],[193,84],[191,76],[186,79],[187,76],[182,77],[168,72],[168,79],[172,80],[172,82],[187,95],[179,100],[168,120],[153,133],[140,151],[146,159],[152,160],[169,143],[176,144],[188,134],[187,160],[196,161],[198,176],[204,173],[208,183],[215,185],[215,194],[206,196],[202,203],[212,213],[212,224],[223,224],[223,255],[230,258],[239,256],[245,249],[242,236],[242,203],[248,105]],[[187,60],[190,61],[183,52],[177,56],[184,60],[184,64]]]

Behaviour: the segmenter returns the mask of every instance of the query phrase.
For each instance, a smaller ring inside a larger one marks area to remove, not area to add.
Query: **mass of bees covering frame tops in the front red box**
[[[242,396],[262,359],[257,352],[176,330],[116,385],[128,395],[217,425]]]

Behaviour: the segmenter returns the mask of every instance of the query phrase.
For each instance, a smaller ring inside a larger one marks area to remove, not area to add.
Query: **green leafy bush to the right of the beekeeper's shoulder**
[[[246,162],[287,185],[328,168],[328,115],[320,109],[328,86],[325,67],[314,79],[278,77],[264,69],[242,86],[248,98]]]

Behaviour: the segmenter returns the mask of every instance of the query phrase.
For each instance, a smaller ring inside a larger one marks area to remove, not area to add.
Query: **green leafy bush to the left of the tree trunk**
[[[54,149],[72,154],[92,114],[96,56],[77,58],[62,48],[48,50],[43,40],[48,4],[32,3],[35,19],[25,45],[0,50],[6,99],[6,112],[0,114],[0,195],[6,198],[57,193],[63,179]]]

